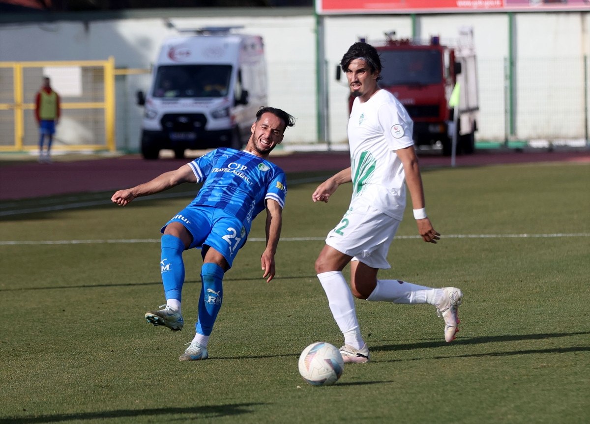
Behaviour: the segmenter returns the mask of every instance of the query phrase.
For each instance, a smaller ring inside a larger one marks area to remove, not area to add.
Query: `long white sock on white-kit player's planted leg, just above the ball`
[[[361,349],[365,342],[360,336],[359,321],[356,318],[355,301],[342,272],[328,271],[317,274],[326,292],[330,311],[344,335],[344,343]]]

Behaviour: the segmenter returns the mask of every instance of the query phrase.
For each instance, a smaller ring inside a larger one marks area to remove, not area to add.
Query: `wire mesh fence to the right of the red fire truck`
[[[478,140],[588,143],[588,57],[479,60]]]

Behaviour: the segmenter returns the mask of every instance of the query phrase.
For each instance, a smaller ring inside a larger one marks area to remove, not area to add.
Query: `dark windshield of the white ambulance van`
[[[231,65],[165,65],[158,68],[153,97],[224,97]]]

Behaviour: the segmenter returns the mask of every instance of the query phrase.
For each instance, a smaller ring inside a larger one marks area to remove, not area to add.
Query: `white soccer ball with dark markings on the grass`
[[[342,354],[330,343],[319,341],[303,349],[299,357],[299,373],[313,386],[336,383],[344,370]]]

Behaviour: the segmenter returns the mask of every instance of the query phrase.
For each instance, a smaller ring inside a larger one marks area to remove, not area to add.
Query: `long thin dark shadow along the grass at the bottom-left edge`
[[[115,418],[133,418],[139,416],[162,416],[162,421],[166,420],[166,415],[172,414],[198,414],[205,415],[208,419],[225,416],[237,416],[245,413],[251,413],[248,409],[257,405],[266,405],[264,403],[230,403],[227,405],[211,406],[194,406],[194,407],[169,407],[155,409],[119,409],[112,411],[81,412],[71,414],[55,415],[37,415],[31,417],[8,417],[0,418],[0,424],[32,424],[48,423],[61,421],[79,422],[91,419],[115,419]]]

